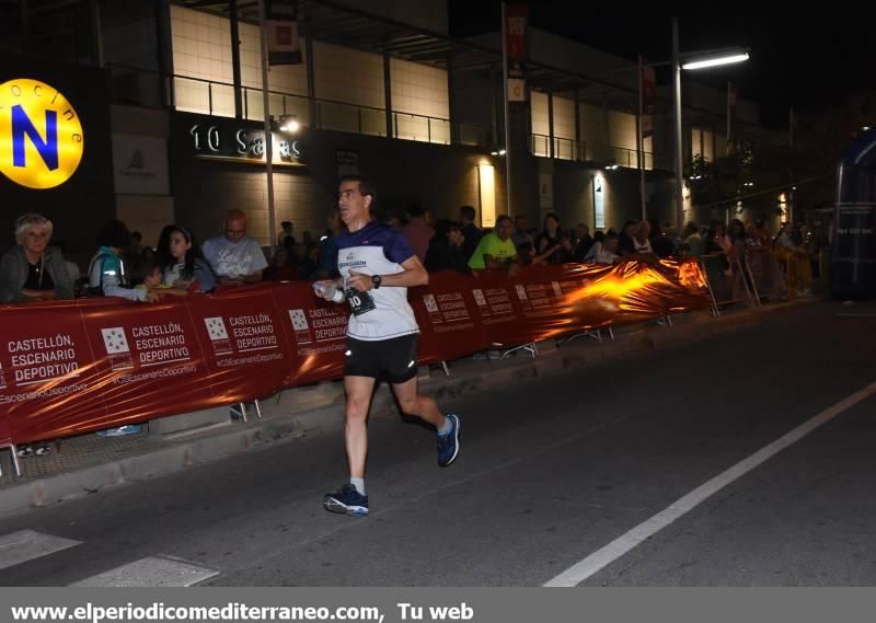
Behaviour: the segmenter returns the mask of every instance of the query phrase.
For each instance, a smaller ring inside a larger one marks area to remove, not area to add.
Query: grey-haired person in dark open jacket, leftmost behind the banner
[[[76,295],[59,249],[48,246],[51,221],[36,214],[15,220],[15,241],[0,261],[0,301],[50,301]]]

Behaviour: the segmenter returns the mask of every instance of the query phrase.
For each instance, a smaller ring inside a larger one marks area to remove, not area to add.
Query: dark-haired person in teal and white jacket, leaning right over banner
[[[97,232],[97,252],[89,264],[89,293],[92,296],[120,297],[129,301],[158,300],[150,290],[131,289],[122,251],[130,244],[128,228],[120,220],[104,223]]]

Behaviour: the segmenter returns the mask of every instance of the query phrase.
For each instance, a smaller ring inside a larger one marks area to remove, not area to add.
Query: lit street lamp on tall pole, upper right
[[[684,229],[684,140],[681,127],[681,70],[705,69],[748,60],[748,50],[734,48],[680,53],[678,49],[678,18],[672,18],[672,116],[676,135],[676,226],[679,235]]]

